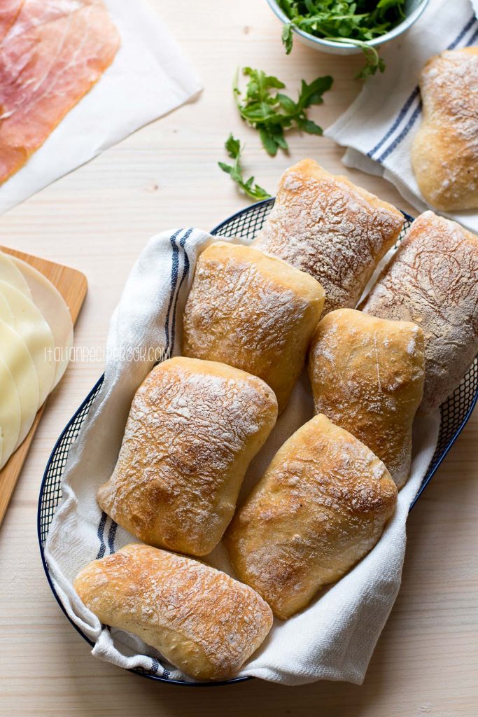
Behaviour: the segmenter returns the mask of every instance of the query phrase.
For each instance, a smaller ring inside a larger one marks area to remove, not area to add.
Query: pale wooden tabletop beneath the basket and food
[[[237,66],[260,67],[293,94],[331,74],[312,116],[329,125],[353,100],[361,58],[296,47],[286,57],[265,0],[151,0],[199,70],[204,92],[0,218],[1,243],[80,269],[90,290],[76,345],[104,346],[123,283],[148,238],[177,226],[214,227],[241,209],[216,162],[230,130],[247,141],[246,171],[272,193],[282,171],[310,156],[413,213],[386,181],[348,171],[326,138],[290,135],[269,158],[236,115]],[[476,717],[478,713],[478,414],[470,420],[408,520],[403,583],[365,683],[297,688],[252,680],[231,687],[161,685],[100,663],[60,612],[37,544],[37,498],[49,452],[102,371],[78,361],[49,399],[0,528],[0,715]]]

